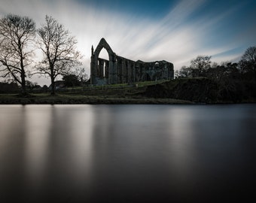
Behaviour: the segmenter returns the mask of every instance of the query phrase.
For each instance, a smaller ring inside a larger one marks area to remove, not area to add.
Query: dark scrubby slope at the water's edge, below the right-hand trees
[[[255,102],[255,83],[216,83],[207,78],[170,80],[148,86],[145,96],[153,98],[176,98],[198,103]]]

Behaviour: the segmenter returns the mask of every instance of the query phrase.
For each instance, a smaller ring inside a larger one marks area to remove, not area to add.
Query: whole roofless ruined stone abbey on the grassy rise
[[[102,48],[108,52],[109,60],[100,59]],[[102,38],[90,61],[91,84],[136,83],[149,80],[171,80],[174,77],[173,64],[166,61],[142,62],[117,56]]]

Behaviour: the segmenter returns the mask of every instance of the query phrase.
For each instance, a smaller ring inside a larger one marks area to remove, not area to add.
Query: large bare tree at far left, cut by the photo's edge
[[[0,19],[0,71],[12,77],[26,95],[26,74],[32,63],[35,22],[29,17],[9,14]]]

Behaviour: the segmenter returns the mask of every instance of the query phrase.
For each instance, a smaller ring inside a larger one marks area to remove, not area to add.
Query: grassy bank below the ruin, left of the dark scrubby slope
[[[26,97],[18,94],[1,94],[0,104],[193,104],[194,102],[174,98],[150,98],[144,94],[149,85],[165,81],[140,82],[61,89],[56,95],[30,93]]]

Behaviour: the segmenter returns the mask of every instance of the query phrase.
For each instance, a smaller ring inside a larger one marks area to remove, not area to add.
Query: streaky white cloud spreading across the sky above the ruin
[[[241,47],[245,43],[242,39],[236,41],[238,44],[234,43],[235,37],[233,41],[227,40],[227,44],[218,43],[218,35],[221,35],[218,26],[235,11],[227,9],[218,15],[190,20],[206,2],[178,1],[162,20],[103,10],[69,0],[2,0],[0,14],[27,15],[35,20],[37,26],[44,23],[46,14],[54,17],[78,39],[78,50],[84,54],[87,72],[90,71],[90,47],[92,44],[96,47],[101,38],[105,38],[119,56],[145,61],[165,59],[173,62],[175,68],[189,65],[190,59],[202,54],[215,56],[216,62],[228,57],[237,59],[237,53],[225,56],[221,53]]]

